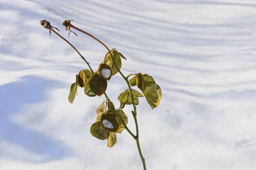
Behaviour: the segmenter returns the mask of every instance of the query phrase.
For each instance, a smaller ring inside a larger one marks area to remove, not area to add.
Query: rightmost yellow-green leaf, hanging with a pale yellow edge
[[[145,88],[144,96],[151,108],[154,109],[159,105],[162,98],[161,88],[157,84],[149,83]]]

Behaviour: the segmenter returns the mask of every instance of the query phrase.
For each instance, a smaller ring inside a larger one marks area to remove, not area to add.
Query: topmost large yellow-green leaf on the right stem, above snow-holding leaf
[[[113,57],[112,57],[113,60],[111,59],[111,54],[113,54]],[[117,66],[117,68],[119,68],[119,70],[121,69],[122,62],[121,62],[121,58],[117,51],[112,49],[111,54],[108,52],[105,55],[104,63],[110,66],[111,71],[112,71],[112,76],[113,76],[118,72],[118,70],[116,69],[116,66]],[[116,66],[114,65],[113,62],[116,64]]]

